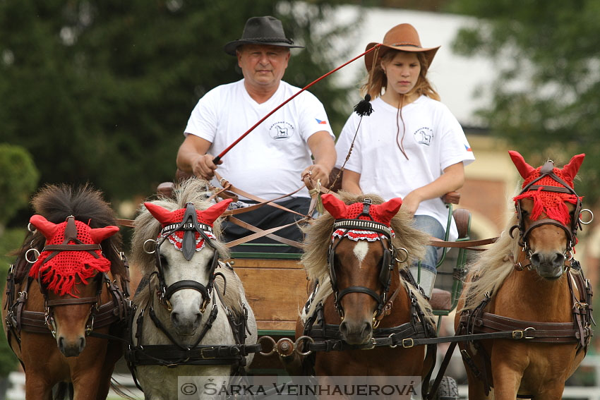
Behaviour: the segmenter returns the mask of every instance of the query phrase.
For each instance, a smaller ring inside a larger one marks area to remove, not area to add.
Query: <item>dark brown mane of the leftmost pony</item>
[[[73,187],[66,183],[46,185],[33,196],[31,205],[35,214],[40,214],[49,222],[61,224],[66,217],[73,215],[76,220],[90,226],[102,228],[108,225],[117,225],[116,214],[110,204],[102,198],[102,192],[96,190],[90,183]],[[44,247],[46,238],[39,231],[29,233],[23,245],[17,250],[16,255],[20,262],[16,266],[16,280],[20,281],[27,274],[28,262],[25,261],[25,252],[36,248],[40,252]],[[102,243],[102,253],[111,262],[111,272],[126,276],[126,267],[120,256],[122,246],[121,234],[109,236]]]

